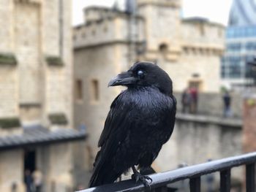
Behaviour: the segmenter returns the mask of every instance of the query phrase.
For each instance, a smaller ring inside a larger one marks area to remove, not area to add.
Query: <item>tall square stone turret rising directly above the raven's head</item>
[[[178,0],[138,0],[138,14],[145,18],[146,58],[153,60],[159,50],[176,58],[181,39],[181,2]]]

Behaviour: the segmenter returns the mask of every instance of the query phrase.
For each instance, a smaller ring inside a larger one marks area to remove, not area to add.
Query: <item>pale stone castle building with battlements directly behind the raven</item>
[[[181,18],[177,0],[137,0],[136,7],[135,12],[87,7],[85,23],[74,28],[74,121],[88,128],[88,156],[97,152],[110,103],[120,93],[120,88],[108,88],[108,81],[134,61],[159,64],[176,92],[189,85],[202,93],[219,92],[224,26]]]

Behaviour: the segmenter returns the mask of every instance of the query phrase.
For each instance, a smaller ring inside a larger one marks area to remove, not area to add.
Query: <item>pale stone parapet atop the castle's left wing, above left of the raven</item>
[[[85,9],[86,23],[76,26],[73,31],[74,47],[87,47],[129,42],[129,16],[125,12],[116,12],[106,7]],[[136,16],[138,29],[137,41],[142,41],[143,18]]]

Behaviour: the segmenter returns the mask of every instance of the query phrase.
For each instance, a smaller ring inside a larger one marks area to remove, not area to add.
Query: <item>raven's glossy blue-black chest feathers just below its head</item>
[[[124,96],[124,108],[127,110],[127,122],[130,123],[132,137],[140,134],[161,134],[168,129],[171,111],[171,99],[154,89],[127,91]],[[159,131],[161,129],[162,131]]]

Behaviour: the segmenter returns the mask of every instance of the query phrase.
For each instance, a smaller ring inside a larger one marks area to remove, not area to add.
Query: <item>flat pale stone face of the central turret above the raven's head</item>
[[[161,1],[159,1],[160,3]],[[145,39],[148,51],[158,51],[161,44],[167,45],[170,50],[179,48],[181,20],[178,8],[168,4],[164,7],[157,6],[157,3],[145,3],[145,5],[138,7],[138,12],[146,20]]]

